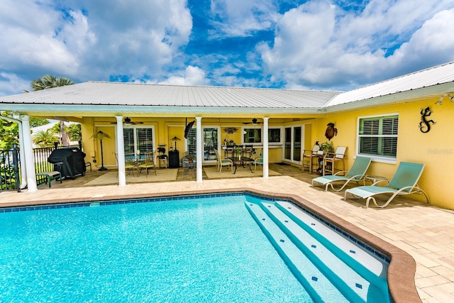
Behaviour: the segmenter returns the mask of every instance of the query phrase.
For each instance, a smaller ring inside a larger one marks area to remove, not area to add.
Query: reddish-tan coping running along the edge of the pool
[[[140,199],[140,198],[156,198],[156,197],[170,197],[170,196],[189,196],[194,194],[222,194],[243,192],[245,194],[255,194],[262,197],[271,199],[285,199],[294,202],[303,209],[314,212],[321,219],[330,222],[336,226],[341,226],[345,231],[350,233],[358,240],[367,243],[368,246],[375,248],[387,255],[390,259],[389,268],[387,271],[387,281],[389,294],[392,301],[395,303],[401,302],[422,302],[416,290],[415,273],[416,261],[409,253],[397,248],[396,246],[388,243],[387,241],[372,235],[362,228],[351,224],[344,219],[332,214],[326,209],[322,209],[316,204],[307,201],[294,194],[277,194],[273,192],[265,192],[258,189],[251,189],[245,187],[230,188],[230,189],[199,189],[184,192],[160,192],[149,194],[125,194],[104,197],[89,197],[89,198],[61,198],[61,199],[43,199],[41,201],[24,201],[24,202],[8,202],[2,203],[1,208],[23,207],[23,206],[43,206],[45,204],[68,204],[68,203],[81,203],[81,202],[101,202],[104,200],[118,200],[118,199]]]

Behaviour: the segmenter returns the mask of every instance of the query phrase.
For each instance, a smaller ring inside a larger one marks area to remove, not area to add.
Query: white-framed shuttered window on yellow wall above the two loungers
[[[358,152],[396,158],[399,116],[376,116],[359,120]]]

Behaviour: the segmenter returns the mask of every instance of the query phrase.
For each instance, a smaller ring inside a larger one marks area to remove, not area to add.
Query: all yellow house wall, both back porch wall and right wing
[[[305,120],[304,127],[304,149],[311,149],[316,141],[323,143],[328,141],[324,134],[326,125],[330,122],[335,123],[338,128],[338,135],[331,139],[334,146],[346,146],[347,154],[345,158],[345,168],[353,164],[356,149],[357,149],[357,133],[358,133],[358,118],[365,116],[380,116],[387,114],[399,114],[399,135],[397,143],[397,161],[396,164],[383,162],[372,162],[368,174],[382,175],[388,179],[392,178],[400,161],[421,162],[425,164],[423,175],[419,181],[421,189],[428,193],[431,203],[443,208],[454,209],[454,187],[451,186],[454,174],[454,133],[450,131],[450,121],[454,114],[454,103],[445,101],[443,105],[436,105],[436,99],[426,101],[411,102],[406,104],[395,104],[392,106],[383,106],[370,109],[361,109],[350,112],[326,114],[317,119]],[[419,122],[421,121],[421,109],[427,106],[431,108],[433,114],[428,119],[433,119],[436,124],[431,125],[431,131],[421,133],[419,130]],[[155,143],[165,144],[166,150],[170,145],[175,148],[175,143],[170,141],[170,138],[177,136],[181,141],[177,141],[177,149],[179,150],[179,158],[184,156],[184,119],[141,119],[144,121],[144,126],[153,125],[155,127]],[[192,121],[192,119],[191,119]],[[270,119],[272,121],[272,119]],[[215,126],[216,121],[202,119],[204,126]],[[301,125],[301,121],[292,123]],[[241,143],[241,125],[240,123],[232,123],[233,127],[237,128],[236,133],[228,134],[228,140],[233,140],[235,143]],[[226,133],[223,128],[228,127],[229,123],[224,122],[221,125],[219,141],[223,142],[226,138]],[[270,127],[277,127],[272,124]],[[282,125],[279,125],[282,126]],[[195,126],[194,126],[195,127]],[[93,163],[94,169],[96,165],[101,166],[101,155],[99,141],[90,138],[97,131],[104,131],[111,136],[111,139],[103,141],[104,147],[104,165],[116,165],[114,155],[115,150],[115,128],[109,123],[101,123],[96,119],[84,119],[82,123],[82,144],[83,150],[87,153],[86,161],[92,162],[95,158],[96,163]],[[282,136],[284,136],[284,128],[282,128]],[[283,140],[283,138],[282,138]],[[92,158],[94,154],[94,158]],[[270,162],[282,162],[282,148],[270,148]],[[417,194],[412,195],[415,199],[420,199],[424,202],[423,196]]]

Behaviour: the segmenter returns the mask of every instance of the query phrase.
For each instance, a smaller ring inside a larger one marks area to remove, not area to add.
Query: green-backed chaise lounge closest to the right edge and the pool
[[[421,177],[423,172],[423,168],[423,164],[400,162],[399,167],[397,167],[397,172],[386,187],[376,186],[376,184],[383,182],[384,180],[379,180],[370,186],[354,187],[345,190],[344,199],[347,199],[347,194],[352,194],[354,197],[367,199],[365,205],[366,208],[369,206],[370,200],[372,200],[377,207],[386,207],[397,195],[422,193],[426,197],[427,203],[431,204],[426,192],[420,189],[417,184],[419,177]],[[392,194],[392,196],[387,200],[387,202],[384,202],[384,204],[378,205],[374,197],[377,194]]]

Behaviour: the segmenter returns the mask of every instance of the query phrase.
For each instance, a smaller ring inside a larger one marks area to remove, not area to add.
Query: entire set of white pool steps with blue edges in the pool
[[[315,296],[314,301],[341,302],[343,297],[346,302],[389,302],[386,280],[380,277],[386,275],[386,263],[292,203],[245,202],[245,206],[301,284],[305,287],[322,285],[322,292],[317,288],[308,290]],[[304,259],[302,266],[301,259]],[[315,267],[313,263],[316,268],[308,271]],[[327,298],[316,297],[328,289]],[[336,291],[341,294],[334,294]]]

